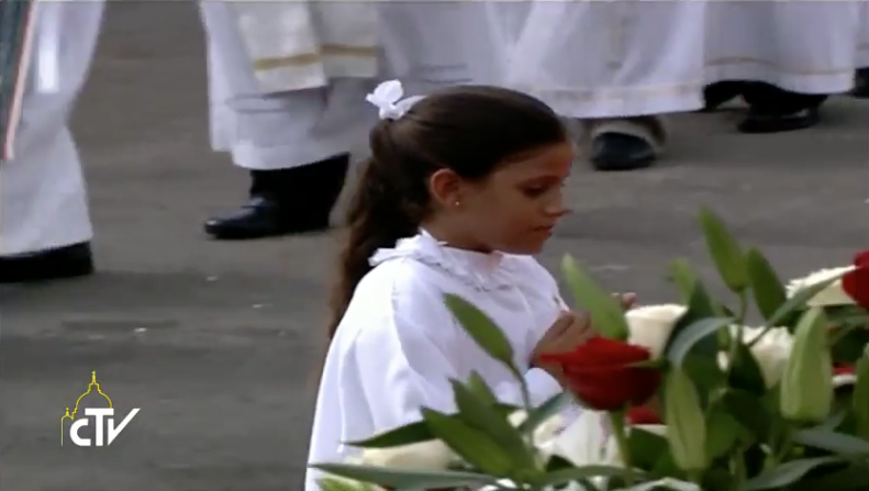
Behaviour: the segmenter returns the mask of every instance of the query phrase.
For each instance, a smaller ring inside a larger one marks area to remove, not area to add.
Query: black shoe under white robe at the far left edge
[[[92,274],[93,255],[89,243],[0,256],[0,284],[49,281]]]

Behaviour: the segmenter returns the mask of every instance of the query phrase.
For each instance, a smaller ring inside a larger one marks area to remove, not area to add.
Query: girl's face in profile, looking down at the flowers
[[[463,182],[454,217],[475,248],[537,254],[569,210],[564,185],[575,157],[571,142],[504,163],[486,179]]]

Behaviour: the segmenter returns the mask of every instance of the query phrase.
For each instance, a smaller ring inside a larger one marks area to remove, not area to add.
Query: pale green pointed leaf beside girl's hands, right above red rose
[[[569,255],[561,261],[561,270],[576,303],[589,312],[594,328],[604,337],[627,339],[630,331],[620,300],[599,287]]]

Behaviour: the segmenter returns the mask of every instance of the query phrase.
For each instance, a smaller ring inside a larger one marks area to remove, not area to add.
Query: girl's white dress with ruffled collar
[[[422,232],[380,249],[359,283],[326,355],[309,464],[346,459],[342,442],[420,420],[420,409],[454,410],[449,379],[482,376],[504,402],[521,403],[520,386],[463,331],[445,306],[454,293],[503,331],[539,404],[561,391],[531,353],[565,309],[555,279],[532,257],[450,248]],[[308,471],[305,491],[319,473]]]

